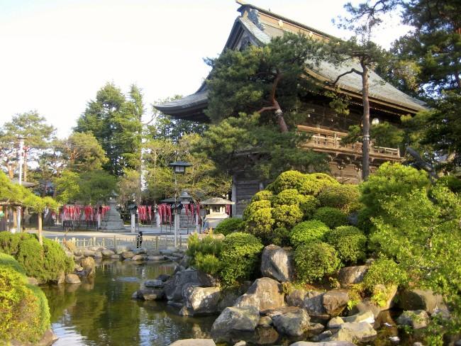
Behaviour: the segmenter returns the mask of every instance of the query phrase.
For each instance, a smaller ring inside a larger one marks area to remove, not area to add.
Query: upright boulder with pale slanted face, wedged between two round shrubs
[[[261,274],[280,282],[293,279],[293,261],[289,253],[277,245],[268,245],[262,251]]]

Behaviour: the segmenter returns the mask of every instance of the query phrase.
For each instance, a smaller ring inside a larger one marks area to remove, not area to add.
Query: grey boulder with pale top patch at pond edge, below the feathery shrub
[[[207,315],[218,312],[221,289],[218,287],[185,286],[184,306],[180,311],[183,316]]]

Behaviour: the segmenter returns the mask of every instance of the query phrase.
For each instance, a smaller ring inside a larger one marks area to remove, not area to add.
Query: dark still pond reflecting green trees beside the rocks
[[[96,262],[96,277],[80,285],[46,286],[55,346],[163,346],[209,337],[216,316],[184,318],[164,301],[133,301],[140,283],[171,274],[174,265]]]

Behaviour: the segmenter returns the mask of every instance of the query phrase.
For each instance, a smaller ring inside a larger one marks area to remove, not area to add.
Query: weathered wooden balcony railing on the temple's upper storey
[[[348,145],[341,144],[341,138],[347,135],[347,133],[304,125],[298,125],[298,130],[313,134],[304,147],[309,147],[321,152],[345,153],[362,156],[362,143],[357,142]],[[401,159],[399,148],[378,147],[372,144],[370,145],[370,156],[385,160]]]

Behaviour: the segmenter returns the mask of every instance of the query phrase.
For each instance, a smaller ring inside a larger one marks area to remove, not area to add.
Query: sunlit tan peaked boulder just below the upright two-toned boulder
[[[284,305],[282,285],[269,277],[256,279],[247,293],[240,296],[235,302],[237,307],[255,306],[258,311],[262,312],[281,308]]]

